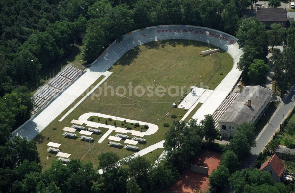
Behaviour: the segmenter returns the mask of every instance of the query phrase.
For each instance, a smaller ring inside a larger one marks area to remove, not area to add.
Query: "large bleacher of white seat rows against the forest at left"
[[[31,112],[35,114],[50,99],[57,95],[66,85],[71,83],[83,71],[71,65],[66,66],[60,73],[53,77],[46,85],[42,86],[34,95],[33,101],[36,107]]]

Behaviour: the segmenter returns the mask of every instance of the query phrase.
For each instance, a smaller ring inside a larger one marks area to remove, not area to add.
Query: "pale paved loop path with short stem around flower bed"
[[[135,131],[135,130],[126,130],[125,128],[122,127],[115,127],[114,125],[106,125],[103,123],[98,123],[98,122],[93,122],[93,121],[88,121],[87,119],[91,116],[95,116],[95,117],[102,117],[102,118],[112,118],[112,120],[116,121],[124,121],[126,120],[126,122],[130,122],[130,123],[135,123],[138,122],[140,125],[148,125],[149,128],[148,130],[146,130],[145,132],[140,132],[140,131]],[[106,137],[109,136],[109,134],[112,131],[116,131],[116,132],[120,132],[120,133],[131,133],[132,135],[136,135],[136,136],[141,136],[141,135],[153,135],[155,132],[158,131],[159,127],[158,125],[152,124],[152,123],[148,123],[148,122],[143,122],[143,121],[137,121],[137,120],[131,120],[131,119],[125,119],[125,118],[121,118],[121,117],[116,117],[116,116],[112,116],[112,115],[106,115],[106,114],[102,114],[102,113],[85,113],[83,115],[81,115],[79,117],[79,121],[83,121],[83,123],[86,123],[87,126],[90,127],[105,127],[108,128],[108,132],[106,132],[99,140],[98,143],[103,142]]]

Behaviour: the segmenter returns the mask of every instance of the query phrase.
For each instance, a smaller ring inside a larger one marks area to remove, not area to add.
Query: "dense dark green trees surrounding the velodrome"
[[[244,50],[238,65],[243,79],[258,84],[265,82],[263,78],[268,71],[265,66],[267,38],[273,44],[278,43],[278,39],[285,40],[283,52],[274,51],[271,60],[276,83],[281,90],[286,90],[295,76],[295,23],[288,31],[272,26],[268,32],[260,21],[245,18],[246,7],[253,3],[255,0],[0,1],[0,192],[102,193],[140,192],[140,189],[149,192],[175,182],[178,173],[204,145],[201,139],[205,137],[209,144],[212,142],[212,137],[203,133],[204,125],[175,123],[166,136],[168,156],[162,161],[151,163],[145,158],[136,158],[124,163],[127,169],[118,167],[117,155],[101,155],[100,165],[108,171],[102,175],[96,173],[97,168],[90,162],[79,160],[72,160],[68,166],[55,162],[50,169],[41,172],[36,144],[16,136],[9,139],[12,130],[30,118],[34,107],[31,86],[40,82],[42,73],[67,57],[74,45],[85,45],[84,60],[91,63],[113,41],[120,41],[129,31],[147,26],[187,24],[236,35]],[[174,140],[178,140],[175,133],[194,137],[180,138],[186,146],[176,147],[173,146]],[[252,145],[245,142],[245,137],[237,137],[231,142],[232,147],[224,147],[224,151],[233,151],[236,155],[231,153],[231,156],[237,157],[239,162],[241,157],[248,156]],[[244,148],[246,155],[240,152]],[[222,166],[220,172],[227,174],[222,181],[227,183],[234,171]],[[250,175],[248,171],[235,175],[244,173]],[[211,190],[223,189],[214,182],[220,179],[219,170],[213,174],[217,177],[211,177]]]

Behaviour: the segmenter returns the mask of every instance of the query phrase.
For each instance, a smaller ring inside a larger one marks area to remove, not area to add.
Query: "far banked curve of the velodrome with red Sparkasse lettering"
[[[122,42],[114,41],[92,65],[112,66],[131,48],[152,41],[171,39],[201,41],[217,46],[232,56],[234,68],[242,55],[237,38],[222,31],[190,25],[161,25],[131,31],[123,37]]]

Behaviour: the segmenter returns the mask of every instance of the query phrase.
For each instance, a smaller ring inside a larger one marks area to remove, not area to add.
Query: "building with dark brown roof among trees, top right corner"
[[[270,28],[273,23],[279,23],[282,27],[286,27],[287,23],[290,23],[289,20],[294,20],[294,18],[288,18],[288,12],[283,8],[257,8],[255,16],[265,24],[266,28]]]

